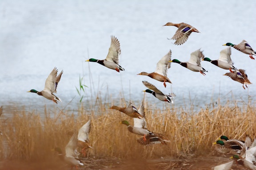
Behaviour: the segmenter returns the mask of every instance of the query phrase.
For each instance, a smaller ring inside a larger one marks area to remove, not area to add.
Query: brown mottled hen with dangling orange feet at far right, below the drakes
[[[242,83],[243,84],[243,88],[244,88],[244,84],[245,84],[246,87],[247,87],[247,85],[252,84],[249,81],[247,74],[242,69],[234,70],[233,73],[232,72],[225,73],[224,76],[228,76],[228,77],[232,78],[232,80],[238,81],[238,82]]]

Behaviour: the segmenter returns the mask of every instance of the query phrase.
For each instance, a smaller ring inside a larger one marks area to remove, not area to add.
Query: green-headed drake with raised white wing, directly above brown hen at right
[[[213,65],[218,66],[225,70],[230,70],[230,72],[233,72],[232,70],[237,70],[235,66],[233,66],[233,62],[230,58],[231,56],[231,48],[225,48],[224,50],[220,51],[220,58],[217,60],[211,60],[210,58],[202,58],[202,61],[208,61],[211,62]]]

